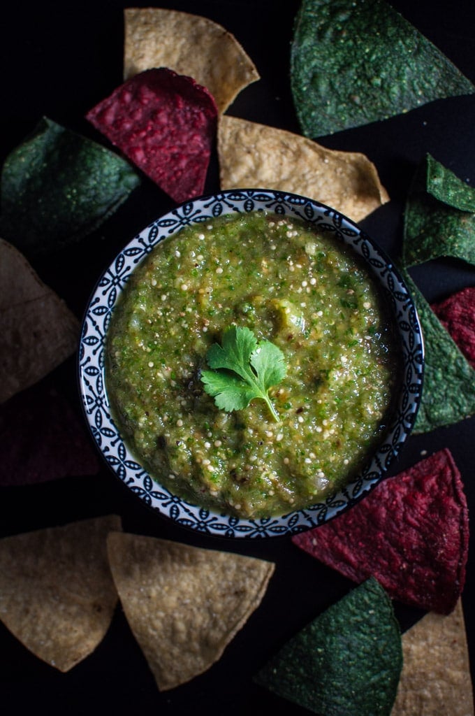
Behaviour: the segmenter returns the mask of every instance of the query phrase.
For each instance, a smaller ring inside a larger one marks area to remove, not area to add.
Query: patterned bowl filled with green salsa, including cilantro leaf
[[[188,201],[104,271],[79,349],[84,412],[119,480],[175,523],[269,537],[325,523],[410,435],[423,339],[378,244],[318,201]]]

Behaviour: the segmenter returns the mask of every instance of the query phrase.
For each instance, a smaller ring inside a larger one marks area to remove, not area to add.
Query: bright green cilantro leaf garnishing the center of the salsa
[[[243,410],[251,400],[264,400],[274,420],[278,413],[268,391],[285,377],[282,351],[270,341],[256,339],[248,328],[231,326],[222,336],[222,345],[214,343],[207,352],[207,364],[201,380],[205,391],[220,410]]]

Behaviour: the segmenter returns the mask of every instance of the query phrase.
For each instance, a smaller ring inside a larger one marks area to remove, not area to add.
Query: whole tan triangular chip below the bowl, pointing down
[[[273,563],[112,533],[112,576],[160,690],[202,674],[263,599]]]

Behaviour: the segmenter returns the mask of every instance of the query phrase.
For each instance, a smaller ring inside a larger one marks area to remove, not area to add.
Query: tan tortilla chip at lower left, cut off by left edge
[[[114,515],[0,540],[0,619],[36,657],[67,672],[112,621],[117,592],[107,563]]]

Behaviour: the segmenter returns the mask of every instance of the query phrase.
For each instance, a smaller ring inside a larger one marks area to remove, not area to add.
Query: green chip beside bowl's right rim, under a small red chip
[[[425,349],[421,405],[413,433],[453,425],[475,413],[475,370],[437,318],[407,271],[401,272],[416,304]]]

